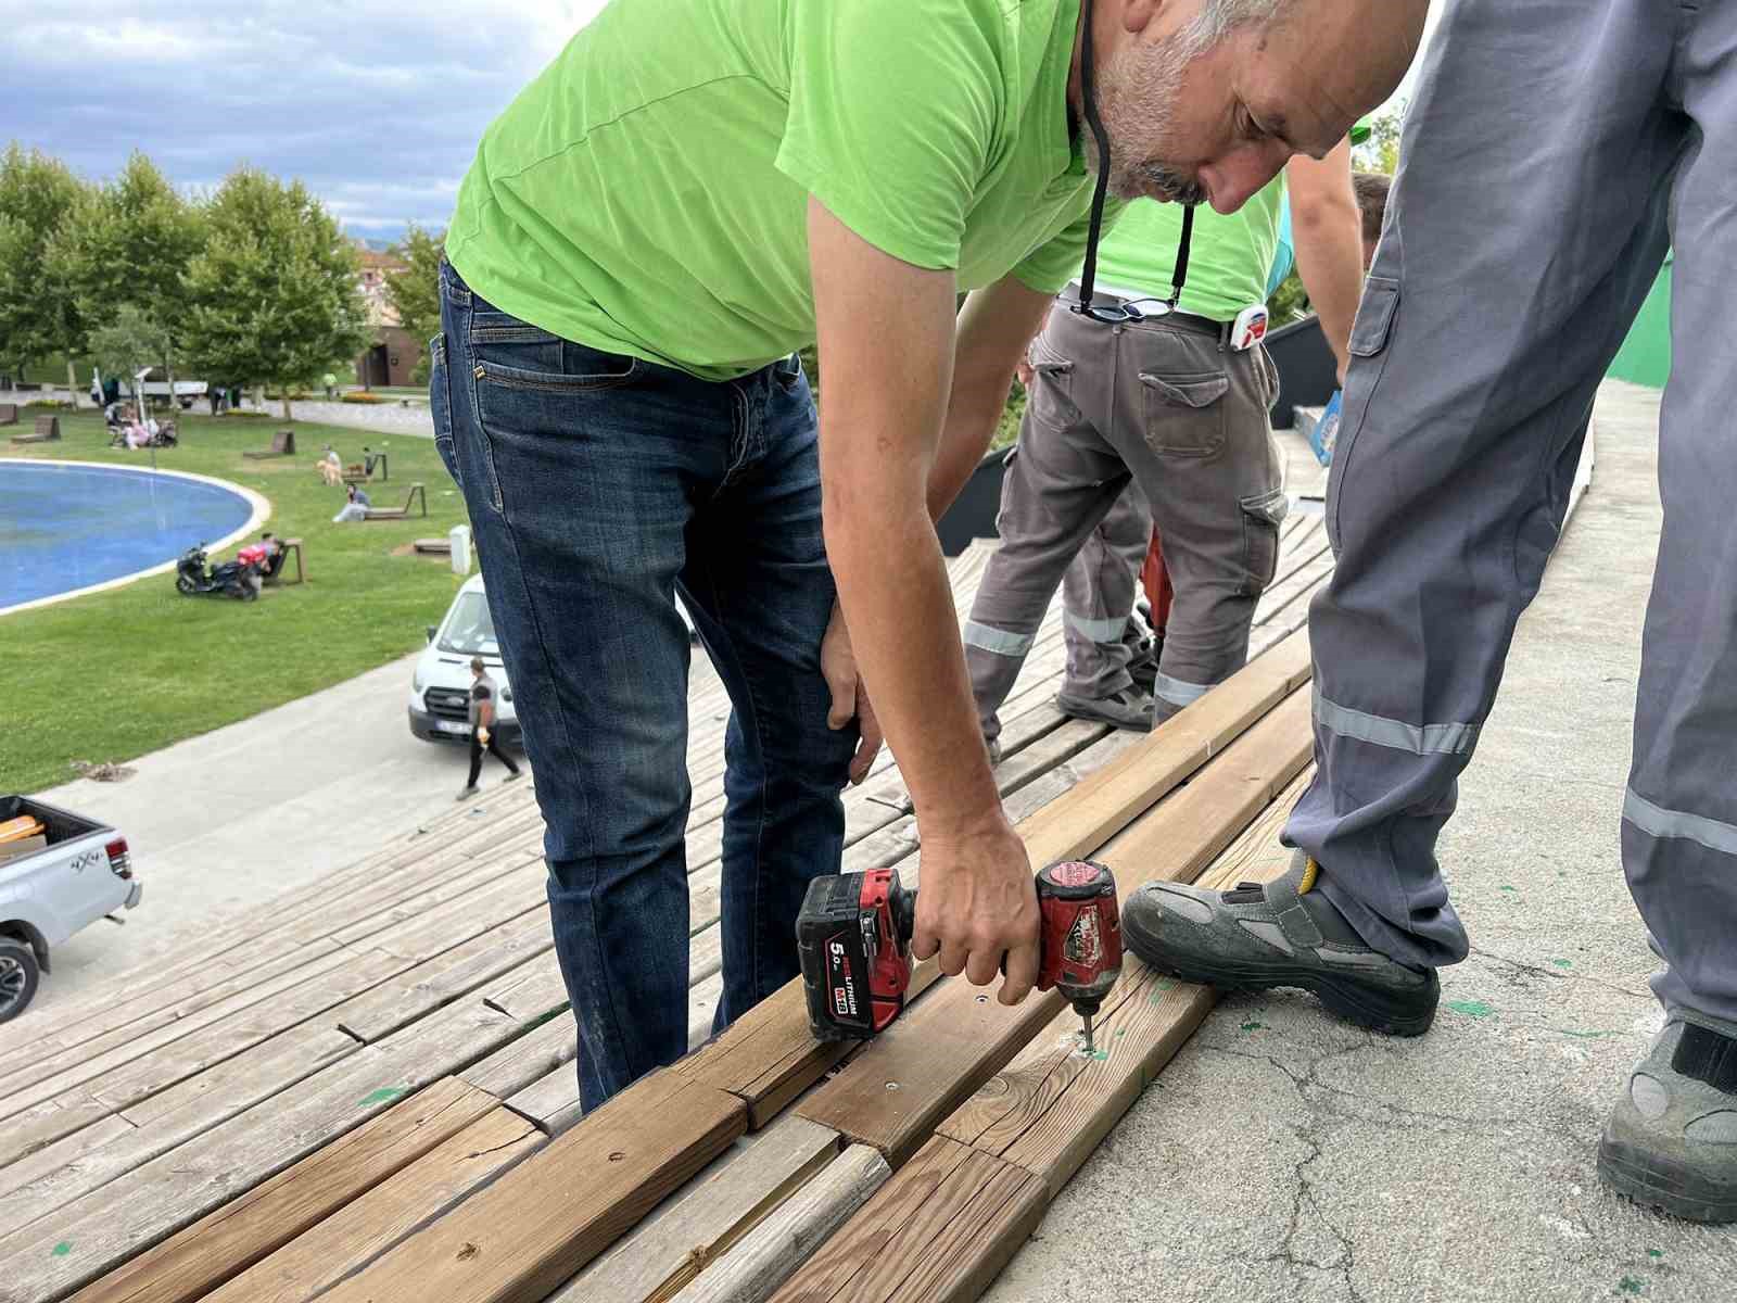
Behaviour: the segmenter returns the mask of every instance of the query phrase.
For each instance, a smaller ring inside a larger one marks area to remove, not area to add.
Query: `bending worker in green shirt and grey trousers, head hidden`
[[[1080,318],[1067,309],[1070,290],[1032,342],[1002,546],[966,624],[992,756],[997,711],[1058,585],[1068,669],[1056,704],[1073,718],[1146,731],[1247,658],[1287,502],[1266,420],[1277,372],[1237,321],[1265,302],[1287,186],[1299,271],[1343,368],[1362,287],[1348,141],[1324,160],[1291,160],[1235,214],[1199,214],[1179,299],[1167,290],[1181,214],[1133,203],[1103,243],[1096,292],[1145,320]],[[1176,598],[1157,655],[1136,655],[1134,582],[1153,523]]]

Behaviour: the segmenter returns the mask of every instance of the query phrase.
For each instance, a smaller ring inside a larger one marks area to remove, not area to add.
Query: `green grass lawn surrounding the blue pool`
[[[28,427],[30,412],[21,415],[19,427]],[[281,420],[182,413],[177,424],[181,446],[158,450],[158,466],[262,493],[271,502],[262,528],[301,535],[307,582],[267,587],[259,601],[240,603],[182,598],[172,573],[153,575],[0,617],[3,792],[52,787],[76,777],[75,759],[130,759],[413,652],[424,643],[424,625],[441,617],[457,591],[445,558],[394,556],[412,539],[445,535],[466,521],[433,441],[292,422],[301,452],[254,462],[241,452],[267,446]],[[148,452],[109,448],[99,415],[63,413],[61,431],[56,445],[0,443],[0,457],[149,466]],[[0,431],[9,433],[16,431]],[[346,462],[360,460],[363,443],[386,446],[393,478],[370,485],[373,504],[400,506],[420,480],[429,518],[332,525],[344,495],[314,471],[325,443]],[[269,756],[259,759],[269,764]]]

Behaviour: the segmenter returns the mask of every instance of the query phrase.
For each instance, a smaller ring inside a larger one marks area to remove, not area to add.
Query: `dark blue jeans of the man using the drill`
[[[797,973],[839,872],[853,728],[827,728],[834,584],[792,358],[710,384],[558,339],[441,271],[434,443],[471,511],[537,770],[589,1110],[688,1049],[686,627],[730,693],[717,1027]]]

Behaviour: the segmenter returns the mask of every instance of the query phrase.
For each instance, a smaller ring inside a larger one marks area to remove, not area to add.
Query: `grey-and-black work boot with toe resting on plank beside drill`
[[[1407,968],[1364,945],[1327,896],[1303,851],[1277,883],[1202,891],[1148,883],[1122,909],[1127,949],[1160,973],[1219,990],[1299,987],[1320,1002],[1390,1035],[1423,1035],[1442,983],[1433,968]]]

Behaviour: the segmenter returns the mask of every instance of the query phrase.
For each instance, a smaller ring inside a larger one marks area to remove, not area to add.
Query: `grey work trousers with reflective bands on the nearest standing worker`
[[[1287,841],[1365,942],[1466,956],[1436,834],[1556,542],[1595,389],[1674,243],[1664,532],[1622,808],[1666,1004],[1737,1023],[1737,5],[1457,0],[1351,337]],[[1640,544],[1641,540],[1636,540]]]

